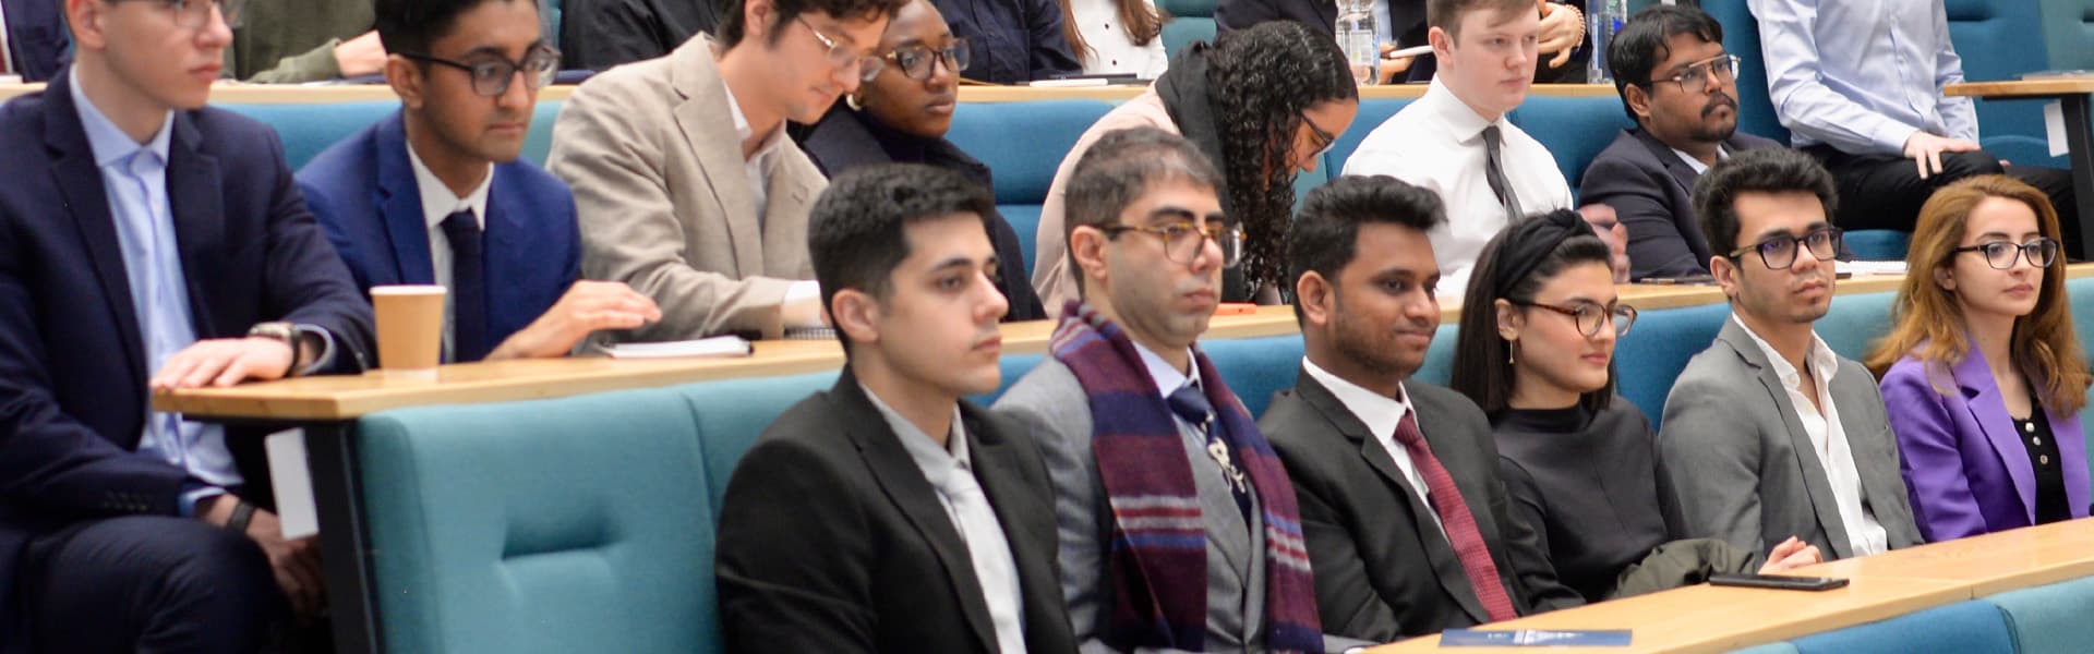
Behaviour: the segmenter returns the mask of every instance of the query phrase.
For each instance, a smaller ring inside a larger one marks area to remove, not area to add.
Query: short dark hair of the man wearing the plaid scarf
[[[1118,224],[1120,212],[1141,199],[1150,184],[1166,180],[1187,180],[1206,189],[1221,189],[1221,174],[1215,164],[1200,153],[1185,136],[1158,128],[1112,130],[1091,143],[1076,159],[1068,176],[1062,210],[1062,243],[1078,226]],[[1083,266],[1076,266],[1076,249],[1068,252],[1068,268],[1076,275],[1076,289],[1083,289]]]

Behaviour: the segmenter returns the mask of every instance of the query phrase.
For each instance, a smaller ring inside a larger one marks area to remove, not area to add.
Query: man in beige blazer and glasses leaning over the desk
[[[582,275],[624,281],[662,321],[622,340],[777,337],[821,327],[806,216],[827,187],[785,119],[812,124],[884,59],[900,0],[729,0],[718,38],[591,78],[553,126]]]

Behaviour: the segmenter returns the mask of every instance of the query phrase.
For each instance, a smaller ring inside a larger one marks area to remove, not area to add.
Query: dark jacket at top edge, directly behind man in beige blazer
[[[716,0],[567,0],[559,13],[563,69],[607,71],[676,50],[720,23]]]

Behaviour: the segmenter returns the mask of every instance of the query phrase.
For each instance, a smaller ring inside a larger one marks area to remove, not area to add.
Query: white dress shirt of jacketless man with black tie
[[[1550,149],[1503,117],[1476,115],[1439,78],[1422,99],[1374,128],[1344,161],[1344,174],[1386,174],[1430,189],[1447,203],[1447,224],[1426,233],[1441,264],[1443,298],[1460,298],[1468,289],[1468,272],[1483,245],[1506,228],[1506,205],[1483,174],[1483,128],[1489,126],[1497,126],[1503,138],[1497,157],[1520,210],[1568,210],[1570,184],[1556,170]]]

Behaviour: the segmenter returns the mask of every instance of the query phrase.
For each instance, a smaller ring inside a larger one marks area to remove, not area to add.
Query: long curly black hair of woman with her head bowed
[[[1244,226],[1244,281],[1286,285],[1294,216],[1294,134],[1317,103],[1359,101],[1344,52],[1302,23],[1267,21],[1221,36],[1206,69],[1221,132],[1229,212]]]

